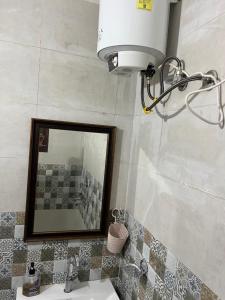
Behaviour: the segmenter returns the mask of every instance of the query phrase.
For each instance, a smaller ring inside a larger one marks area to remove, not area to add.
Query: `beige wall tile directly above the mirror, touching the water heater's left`
[[[115,113],[116,83],[95,59],[41,52],[39,104]]]

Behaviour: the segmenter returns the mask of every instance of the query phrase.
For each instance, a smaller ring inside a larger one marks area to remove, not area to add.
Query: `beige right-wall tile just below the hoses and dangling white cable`
[[[197,112],[217,120],[215,107],[199,108]],[[224,147],[224,130],[184,112],[164,123],[159,172],[225,199]]]

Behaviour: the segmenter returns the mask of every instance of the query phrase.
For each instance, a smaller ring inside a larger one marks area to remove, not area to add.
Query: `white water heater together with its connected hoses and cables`
[[[220,80],[215,70],[189,74],[184,68],[184,62],[178,57],[166,57],[169,24],[173,24],[171,23],[173,18],[169,23],[170,4],[178,2],[180,5],[177,8],[181,7],[182,1],[100,0],[98,57],[108,64],[109,71],[112,73],[126,74],[140,71],[140,98],[145,114],[153,112],[153,108],[159,103],[165,106],[174,89],[184,91],[189,83],[199,81],[202,86],[186,95],[184,108],[186,107],[200,120],[223,128],[225,117],[221,85],[225,83],[225,79]],[[179,28],[179,24],[175,26]],[[170,81],[165,80],[166,72],[167,75],[172,74]],[[155,80],[158,78],[157,75],[159,75],[158,81]],[[159,95],[152,92],[154,89],[151,86],[154,82],[159,83]],[[190,104],[200,93],[214,89],[217,90],[215,99],[218,107],[218,120],[212,121],[198,114]],[[148,106],[145,100],[145,90],[149,98]]]

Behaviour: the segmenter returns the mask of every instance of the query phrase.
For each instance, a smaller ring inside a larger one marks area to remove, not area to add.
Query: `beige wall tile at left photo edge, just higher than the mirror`
[[[40,50],[0,42],[0,103],[37,103]]]

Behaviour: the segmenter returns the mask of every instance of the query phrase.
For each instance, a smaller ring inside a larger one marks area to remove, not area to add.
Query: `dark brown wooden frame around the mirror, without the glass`
[[[107,149],[106,149],[105,174],[104,174],[103,193],[102,193],[101,222],[100,222],[99,230],[91,229],[91,230],[79,230],[79,231],[74,230],[74,231],[65,231],[65,232],[56,231],[56,232],[43,232],[43,233],[33,232],[40,128],[108,134],[109,138],[108,138]],[[93,239],[93,238],[106,237],[107,229],[108,229],[107,224],[108,224],[110,194],[111,194],[111,185],[112,185],[115,133],[116,133],[116,127],[113,126],[32,119],[24,241],[31,242],[31,241],[40,241],[40,240]]]

